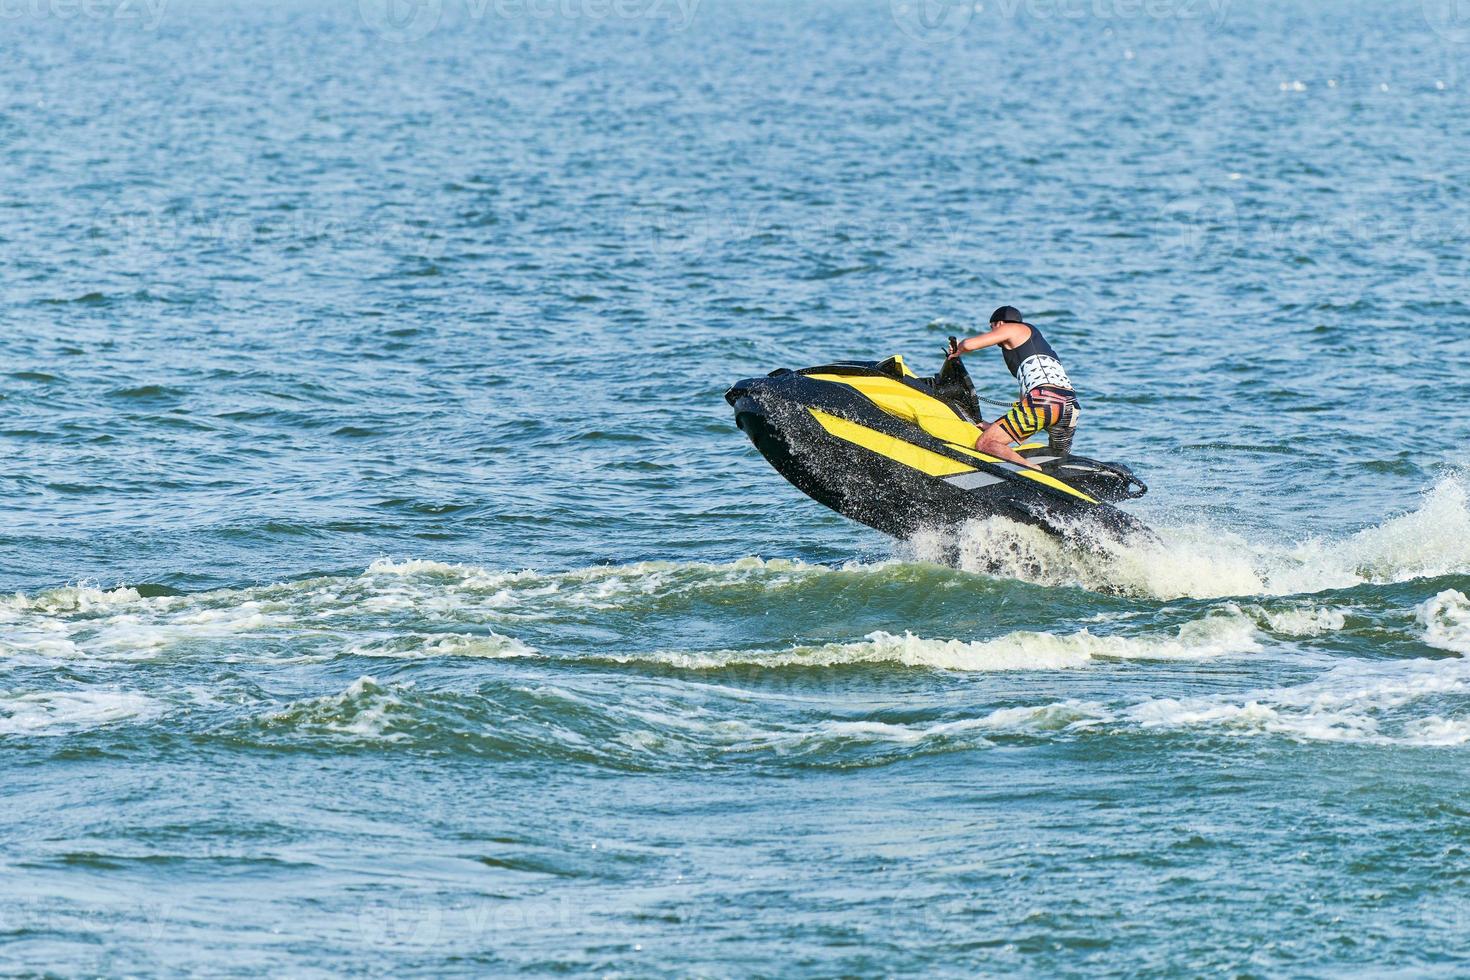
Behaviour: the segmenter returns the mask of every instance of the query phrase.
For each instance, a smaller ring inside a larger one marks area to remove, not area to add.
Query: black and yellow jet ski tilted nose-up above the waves
[[[725,401],[797,489],[894,538],[986,517],[1082,544],[1152,538],[1113,507],[1148,492],[1126,466],[1042,444],[1019,447],[1039,470],[978,453],[979,398],[957,357],[933,378],[916,376],[903,356],[781,369],[735,383]]]

